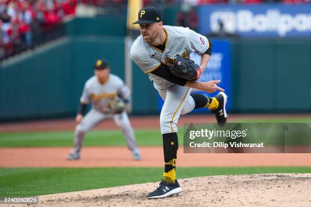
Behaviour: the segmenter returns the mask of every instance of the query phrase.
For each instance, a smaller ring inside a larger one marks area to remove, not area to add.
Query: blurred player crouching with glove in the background
[[[136,145],[134,130],[125,111],[126,103],[130,101],[130,89],[119,77],[110,74],[107,62],[97,60],[94,73],[95,76],[88,79],[84,85],[76,116],[78,125],[75,129],[74,148],[67,159],[80,159],[84,134],[97,123],[113,118],[125,135],[133,159],[140,160],[141,156]],[[92,104],[91,110],[83,117],[89,103]]]

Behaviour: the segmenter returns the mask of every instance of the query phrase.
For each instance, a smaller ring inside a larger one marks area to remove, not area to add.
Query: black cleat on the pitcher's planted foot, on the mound
[[[162,180],[159,184],[159,187],[155,189],[155,191],[152,191],[151,193],[147,194],[148,199],[154,199],[154,198],[166,198],[171,195],[178,194],[182,191],[181,187],[179,186],[177,180],[175,180],[175,183],[168,183],[164,180]]]

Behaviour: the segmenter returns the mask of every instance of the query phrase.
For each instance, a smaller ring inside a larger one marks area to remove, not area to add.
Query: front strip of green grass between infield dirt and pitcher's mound
[[[179,167],[178,179],[215,175],[311,172],[311,167]],[[0,168],[0,197],[32,196],[158,182],[162,167]]]

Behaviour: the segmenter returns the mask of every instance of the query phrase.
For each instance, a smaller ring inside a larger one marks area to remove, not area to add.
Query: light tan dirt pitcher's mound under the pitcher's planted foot
[[[311,206],[311,174],[211,176],[178,180],[183,192],[146,199],[158,183],[43,195],[38,206]]]

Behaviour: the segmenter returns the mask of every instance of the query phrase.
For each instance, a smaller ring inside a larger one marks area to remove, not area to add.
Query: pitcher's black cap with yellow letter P
[[[138,20],[132,24],[150,24],[161,21],[162,15],[159,9],[155,7],[145,7],[139,10]]]

